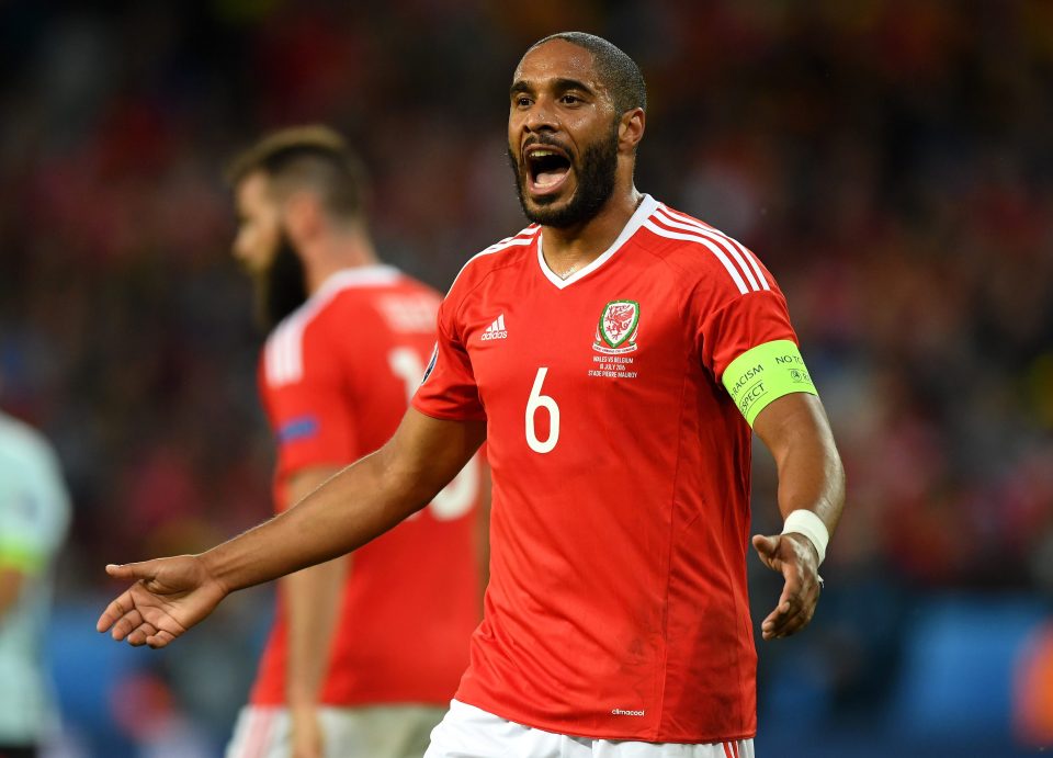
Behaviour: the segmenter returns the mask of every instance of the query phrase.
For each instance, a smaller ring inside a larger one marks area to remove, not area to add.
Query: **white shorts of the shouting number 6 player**
[[[454,700],[424,758],[754,758],[754,740],[681,745],[568,737]]]

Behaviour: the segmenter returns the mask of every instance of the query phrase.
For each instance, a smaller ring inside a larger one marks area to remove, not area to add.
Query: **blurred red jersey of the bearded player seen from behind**
[[[283,482],[346,465],[394,433],[434,343],[439,296],[390,267],[348,269],[270,336],[260,362]],[[434,502],[353,553],[322,686],[331,705],[445,704],[478,623],[478,462]],[[251,702],[285,701],[282,599]]]

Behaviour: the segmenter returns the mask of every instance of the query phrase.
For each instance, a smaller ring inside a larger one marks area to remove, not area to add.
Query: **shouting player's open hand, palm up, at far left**
[[[114,640],[135,646],[165,647],[227,596],[196,555],[111,564],[106,574],[135,584],[106,606],[95,630],[112,630]]]

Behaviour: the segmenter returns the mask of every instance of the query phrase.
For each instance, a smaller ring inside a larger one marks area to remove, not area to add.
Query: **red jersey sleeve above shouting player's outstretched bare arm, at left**
[[[486,410],[456,324],[456,303],[451,292],[439,306],[435,349],[412,405],[432,418],[482,421]]]

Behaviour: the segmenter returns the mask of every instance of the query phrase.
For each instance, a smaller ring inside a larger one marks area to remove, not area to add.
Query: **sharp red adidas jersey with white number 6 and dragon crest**
[[[458,700],[593,738],[755,734],[750,430],[721,377],[780,339],[752,253],[646,195],[566,280],[537,226],[465,265],[414,399],[487,422],[490,584]]]

